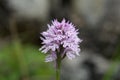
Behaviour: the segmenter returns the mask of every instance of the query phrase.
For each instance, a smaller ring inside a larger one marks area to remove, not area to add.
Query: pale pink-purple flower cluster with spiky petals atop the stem
[[[79,43],[82,40],[77,36],[78,30],[69,21],[53,20],[52,24],[48,25],[48,30],[41,34],[43,46],[39,50],[43,53],[50,52],[46,57],[46,62],[55,61],[57,53],[61,57],[67,56],[69,59],[79,56]]]

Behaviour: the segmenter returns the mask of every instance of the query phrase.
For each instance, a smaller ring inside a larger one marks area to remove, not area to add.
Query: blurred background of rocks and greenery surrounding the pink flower
[[[120,0],[0,0],[0,80],[55,80],[39,37],[63,18],[83,42],[80,57],[64,59],[61,80],[120,80]]]

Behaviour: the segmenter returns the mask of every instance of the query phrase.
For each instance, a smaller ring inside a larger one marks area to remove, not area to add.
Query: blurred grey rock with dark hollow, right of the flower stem
[[[63,61],[62,80],[102,80],[111,62],[91,51],[80,54],[72,61]]]

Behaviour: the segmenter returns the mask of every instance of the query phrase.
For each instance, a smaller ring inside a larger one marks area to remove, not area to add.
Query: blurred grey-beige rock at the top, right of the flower
[[[106,0],[74,0],[76,12],[83,15],[90,25],[96,25],[106,13]]]

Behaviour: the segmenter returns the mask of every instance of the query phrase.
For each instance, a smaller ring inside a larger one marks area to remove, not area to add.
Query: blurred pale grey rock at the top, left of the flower
[[[23,18],[48,19],[49,0],[8,0],[9,7]]]

